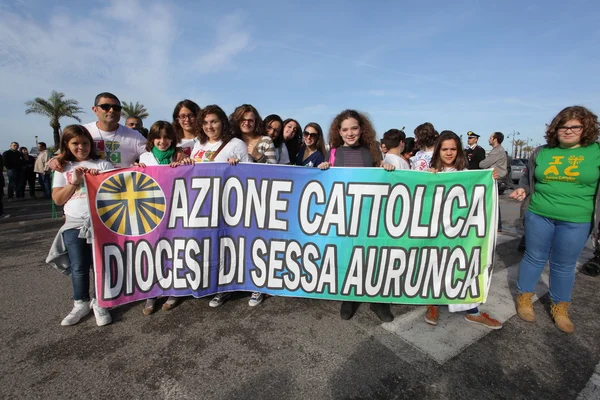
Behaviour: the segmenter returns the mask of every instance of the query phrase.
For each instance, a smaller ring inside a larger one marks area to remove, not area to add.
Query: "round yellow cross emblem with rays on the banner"
[[[111,176],[100,185],[96,208],[111,231],[140,236],[160,224],[166,208],[165,195],[154,179],[137,171]]]

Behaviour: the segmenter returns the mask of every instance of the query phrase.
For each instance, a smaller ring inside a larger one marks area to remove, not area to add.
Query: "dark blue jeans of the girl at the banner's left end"
[[[90,301],[92,245],[87,244],[85,239],[80,239],[78,236],[79,229],[68,229],[63,232],[63,240],[71,261],[73,300]]]

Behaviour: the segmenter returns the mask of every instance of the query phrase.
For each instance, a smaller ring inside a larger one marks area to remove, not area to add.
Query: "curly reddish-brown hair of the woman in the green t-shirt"
[[[579,144],[582,147],[589,146],[598,140],[600,133],[598,116],[585,107],[571,106],[559,112],[552,122],[546,125],[544,138],[549,147],[558,147],[558,128],[572,119],[576,119],[583,125],[583,132],[581,132],[581,138],[579,139]]]

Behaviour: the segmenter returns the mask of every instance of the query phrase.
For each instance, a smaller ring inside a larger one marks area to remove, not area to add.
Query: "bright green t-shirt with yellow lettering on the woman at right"
[[[567,222],[591,222],[598,179],[600,145],[543,148],[535,160],[535,187],[529,210]]]

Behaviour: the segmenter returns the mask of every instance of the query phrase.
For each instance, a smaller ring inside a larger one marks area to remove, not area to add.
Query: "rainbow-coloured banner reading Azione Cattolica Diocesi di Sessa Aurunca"
[[[486,300],[492,171],[201,163],[86,175],[111,307],[227,291],[402,304]]]

